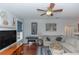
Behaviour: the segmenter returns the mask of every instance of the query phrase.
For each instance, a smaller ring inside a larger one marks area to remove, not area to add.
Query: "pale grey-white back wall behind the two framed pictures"
[[[41,34],[41,35],[63,35],[64,26],[67,24],[77,27],[76,19],[25,19],[24,20],[24,37],[31,36],[31,22],[38,23],[38,34]],[[46,23],[56,23],[57,31],[46,32],[45,31]]]

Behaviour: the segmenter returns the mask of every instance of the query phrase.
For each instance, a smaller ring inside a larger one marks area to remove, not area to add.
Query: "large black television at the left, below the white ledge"
[[[0,31],[0,50],[16,42],[16,30]]]

